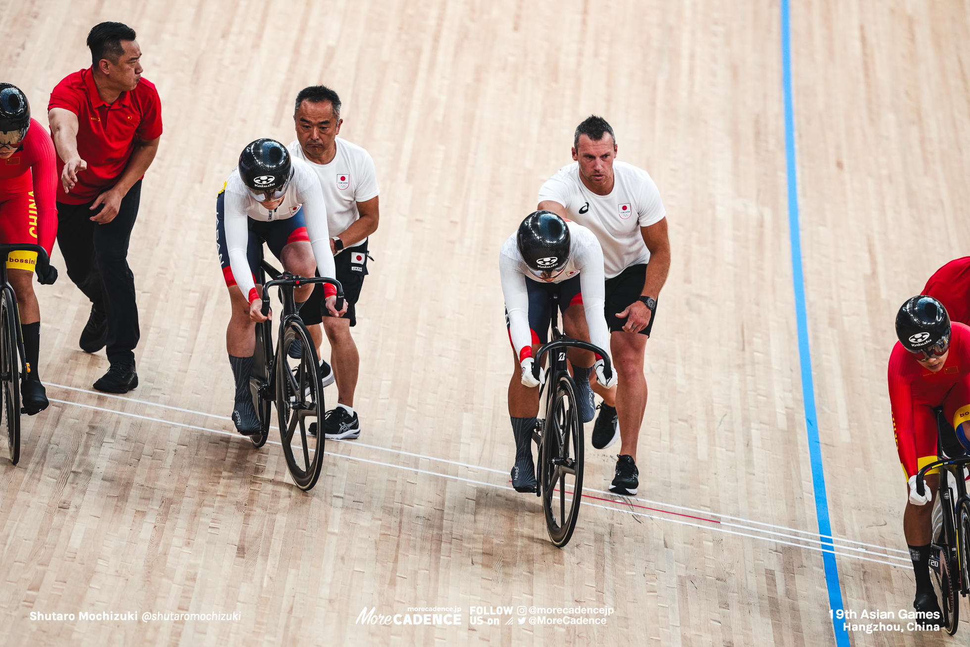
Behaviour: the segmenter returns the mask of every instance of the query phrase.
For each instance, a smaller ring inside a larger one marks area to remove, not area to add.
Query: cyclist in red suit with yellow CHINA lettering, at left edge
[[[49,256],[57,236],[56,187],[57,167],[48,131],[30,118],[23,93],[0,83],[0,242],[40,244]],[[48,406],[38,371],[41,310],[32,284],[37,252],[14,251],[6,262],[28,365],[21,385],[23,407],[34,415]],[[51,278],[38,276],[42,282]]]

